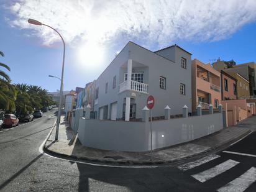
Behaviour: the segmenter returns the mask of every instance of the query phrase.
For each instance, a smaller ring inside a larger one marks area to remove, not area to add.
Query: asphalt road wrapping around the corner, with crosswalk
[[[42,155],[39,147],[54,121],[48,112],[0,133],[0,191],[256,191],[256,134],[180,167],[113,168]]]

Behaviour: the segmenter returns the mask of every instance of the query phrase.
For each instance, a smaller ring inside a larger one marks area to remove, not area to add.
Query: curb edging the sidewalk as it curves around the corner
[[[55,122],[55,124],[56,124],[56,122]],[[55,126],[55,124],[54,124],[54,126]],[[53,126],[53,128],[54,128],[54,126]],[[215,147],[211,147],[210,149],[204,150],[203,152],[194,153],[193,155],[189,155],[187,157],[177,158],[177,159],[168,160],[168,161],[157,160],[157,161],[151,162],[150,160],[148,160],[148,161],[145,161],[145,160],[126,160],[126,161],[105,160],[105,159],[98,159],[98,158],[79,157],[76,155],[66,155],[65,153],[58,153],[53,150],[49,150],[49,149],[47,149],[47,147],[45,147],[45,144],[46,144],[48,138],[52,134],[52,130],[50,131],[50,134],[48,135],[47,139],[45,140],[45,143],[43,144],[43,152],[48,153],[49,155],[52,155],[53,157],[65,158],[67,160],[83,160],[87,163],[98,163],[101,165],[127,165],[127,167],[133,166],[133,165],[138,165],[138,166],[139,165],[140,166],[141,165],[145,165],[145,166],[147,166],[147,165],[170,165],[172,163],[176,165],[176,164],[190,162],[194,158],[204,157],[204,156],[208,155],[209,153],[216,153],[221,150],[224,150],[227,147],[229,147],[230,145],[235,144],[235,142],[237,142],[238,140],[240,140],[244,137],[247,137],[248,135],[250,135],[253,132],[252,130],[247,130],[247,132],[245,132],[244,134],[239,135],[239,137],[235,137],[234,139],[228,140],[224,144],[217,145]]]

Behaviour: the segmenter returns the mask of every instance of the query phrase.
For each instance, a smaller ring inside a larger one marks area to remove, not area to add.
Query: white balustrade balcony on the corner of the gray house
[[[126,90],[132,90],[140,93],[149,94],[149,85],[145,83],[140,83],[138,81],[130,81],[130,88],[129,88],[128,82],[124,81],[119,85],[119,93]]]

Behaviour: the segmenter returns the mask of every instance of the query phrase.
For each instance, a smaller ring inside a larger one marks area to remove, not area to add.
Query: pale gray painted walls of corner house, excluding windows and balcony
[[[171,114],[182,114],[181,110],[185,104],[191,112],[191,55],[178,47],[170,48],[166,52],[170,52],[170,55],[173,55],[171,57],[175,60],[174,62],[135,43],[127,43],[119,55],[96,80],[96,88],[99,88],[99,99],[98,104],[94,106],[94,111],[98,111],[98,117],[99,107],[109,105],[110,108],[111,103],[117,102],[117,119],[122,118],[124,98],[132,93],[132,91],[119,93],[119,83],[124,81],[124,73],[127,70],[124,67],[127,66],[129,58],[132,59],[133,64],[140,63],[145,66],[145,68],[133,68],[133,70],[143,70],[145,73],[144,82],[149,84],[149,94],[155,97],[153,116],[163,116],[162,109],[167,104],[171,107]],[[186,69],[181,68],[181,57],[187,60]],[[113,89],[112,81],[114,76],[116,76],[117,85]],[[160,76],[166,78],[167,89],[159,88]],[[106,83],[108,83],[107,93],[105,93]],[[180,94],[180,83],[186,85],[186,95]],[[149,94],[134,93],[136,94],[134,99],[137,105],[136,118],[141,118],[141,109],[145,106]]]

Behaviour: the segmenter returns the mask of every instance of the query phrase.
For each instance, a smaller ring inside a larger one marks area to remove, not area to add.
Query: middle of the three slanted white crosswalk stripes
[[[227,160],[226,162],[223,162],[219,165],[216,165],[213,168],[210,168],[208,170],[205,170],[201,173],[192,175],[193,178],[195,178],[196,180],[200,181],[201,183],[214,178],[214,176],[217,176],[221,173],[224,173],[225,171],[229,170],[230,168],[234,167],[235,165],[237,165],[239,162],[236,162],[234,160]]]

